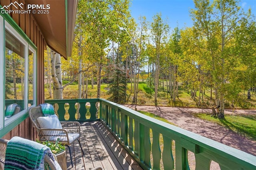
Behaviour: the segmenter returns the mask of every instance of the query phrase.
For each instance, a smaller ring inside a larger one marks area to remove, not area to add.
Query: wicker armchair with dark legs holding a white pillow
[[[39,137],[39,140],[41,142],[44,142],[46,140],[51,142],[56,142],[56,140],[59,138],[60,142],[68,147],[69,154],[70,154],[70,161],[73,168],[73,162],[72,162],[72,156],[71,156],[71,150],[70,145],[74,144],[74,141],[78,141],[82,155],[84,155],[84,151],[82,149],[81,143],[80,143],[80,123],[74,122],[74,121],[60,121],[60,124],[62,128],[53,129],[53,128],[40,128],[40,125],[38,123],[38,117],[44,117],[42,113],[41,106],[32,107],[29,109],[29,117],[32,121],[33,125],[36,127],[36,131]]]

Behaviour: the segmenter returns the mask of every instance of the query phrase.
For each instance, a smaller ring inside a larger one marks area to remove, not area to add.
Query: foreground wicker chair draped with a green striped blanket
[[[0,138],[0,170],[4,169],[5,151],[6,151],[6,145],[8,141],[9,140]],[[54,162],[48,155],[45,155],[44,163],[45,164],[47,163],[50,166],[51,170],[56,170],[56,166]],[[48,167],[48,166],[45,166],[45,167]]]

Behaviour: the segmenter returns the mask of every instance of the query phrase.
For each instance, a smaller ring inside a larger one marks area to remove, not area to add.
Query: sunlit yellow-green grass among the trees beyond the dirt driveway
[[[64,82],[67,83],[67,82]],[[166,84],[166,83],[165,83]],[[47,85],[45,85],[45,99],[52,99],[50,98],[49,91],[46,88]],[[102,84],[101,85],[101,94],[100,98],[102,99],[108,99],[110,95],[107,94],[108,92],[108,84]],[[85,90],[85,89],[84,89]],[[134,83],[127,84],[127,98],[126,98],[126,104],[132,104],[132,99],[134,96]],[[78,95],[78,85],[77,83],[72,83],[72,85],[68,85],[63,89],[63,99],[76,99]],[[97,96],[97,85],[94,85],[92,88],[92,85],[88,85],[88,99],[94,99]],[[201,104],[198,104],[198,97],[199,97],[199,91],[197,91],[197,97],[196,100],[193,100],[191,98],[190,92],[188,92],[186,89],[183,89],[181,86],[179,86],[178,90],[178,97],[176,98],[176,101],[172,100],[172,97],[170,96],[170,93],[167,93],[166,86],[163,89],[163,87],[159,87],[158,89],[158,106],[167,106],[167,107],[194,107],[194,108],[212,108],[215,107],[214,102],[214,93],[212,93],[212,99],[210,99],[210,89],[206,89],[204,93],[204,102],[201,102]],[[149,105],[153,106],[154,103],[154,87],[149,87],[149,85],[145,82],[139,82],[138,85],[138,102],[137,105]],[[256,95],[252,94],[251,99],[247,99],[247,95],[244,93],[240,93],[240,95],[237,97],[237,99],[234,99],[234,105],[236,109],[256,109]],[[233,109],[231,107],[231,102],[225,100],[225,109]]]

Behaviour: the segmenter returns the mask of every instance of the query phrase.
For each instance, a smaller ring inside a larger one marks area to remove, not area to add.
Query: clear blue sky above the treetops
[[[250,7],[252,13],[256,15],[256,0],[241,0],[240,6],[246,11]],[[193,0],[132,0],[130,11],[135,20],[138,20],[139,16],[146,16],[148,21],[161,12],[162,19],[168,18],[168,24],[173,29],[177,25],[179,28],[192,26],[189,13],[192,8],[194,8]]]

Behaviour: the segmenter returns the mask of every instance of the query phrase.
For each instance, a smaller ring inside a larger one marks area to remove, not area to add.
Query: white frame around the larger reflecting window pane
[[[8,32],[10,32],[13,36],[15,36],[15,38],[17,38],[20,41],[20,43],[22,43],[25,46],[24,59],[25,59],[25,80],[26,81],[24,82],[24,87],[25,87],[24,88],[24,110],[6,119],[4,121],[4,127],[6,127],[10,123],[12,123],[15,119],[18,119],[19,117],[21,117],[22,115],[28,112],[28,47],[29,47],[28,42],[26,42],[26,40],[24,40],[24,38],[22,38],[22,36],[6,20],[4,21],[4,32],[5,30],[8,30]],[[5,99],[5,95],[3,96],[3,99]]]

